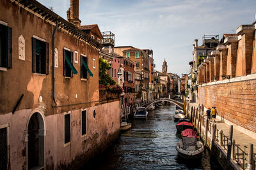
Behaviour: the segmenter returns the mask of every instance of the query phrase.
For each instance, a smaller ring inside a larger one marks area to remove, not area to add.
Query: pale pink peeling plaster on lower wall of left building
[[[96,117],[93,118],[93,111]],[[26,125],[32,110],[0,115],[0,125],[9,124],[10,167],[26,167]],[[118,138],[120,101],[86,109],[87,133],[82,136],[81,109],[71,111],[71,142],[64,146],[64,113],[45,117],[45,164],[47,169],[69,169],[104,152]]]

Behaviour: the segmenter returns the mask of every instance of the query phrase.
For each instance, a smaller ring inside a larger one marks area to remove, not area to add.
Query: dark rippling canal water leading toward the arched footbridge
[[[81,169],[221,169],[206,151],[199,160],[178,156],[181,139],[173,122],[175,105],[148,111],[148,118],[132,120],[132,129],[120,135],[105,153]]]

